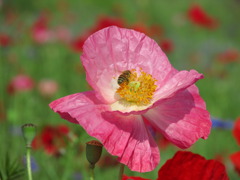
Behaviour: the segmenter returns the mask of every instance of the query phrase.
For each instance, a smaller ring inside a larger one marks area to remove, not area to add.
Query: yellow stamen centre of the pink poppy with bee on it
[[[135,69],[124,71],[118,77],[120,87],[116,92],[124,102],[127,101],[138,106],[149,105],[157,88],[156,81],[152,75],[142,70],[139,73]]]

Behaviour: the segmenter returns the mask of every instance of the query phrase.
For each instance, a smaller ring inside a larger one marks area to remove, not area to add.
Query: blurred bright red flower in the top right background
[[[198,4],[193,4],[188,10],[189,20],[196,25],[214,29],[218,26],[217,20],[212,18],[208,13]]]

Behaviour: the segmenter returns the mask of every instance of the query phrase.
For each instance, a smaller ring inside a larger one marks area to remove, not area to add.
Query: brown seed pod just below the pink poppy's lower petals
[[[90,163],[90,168],[93,169],[101,157],[103,145],[96,140],[89,141],[86,144],[86,157]]]

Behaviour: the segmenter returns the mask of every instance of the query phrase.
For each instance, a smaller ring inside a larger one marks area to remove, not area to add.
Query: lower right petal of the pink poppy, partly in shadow
[[[199,138],[206,139],[211,129],[209,113],[195,85],[162,100],[144,117],[180,148],[190,147]]]

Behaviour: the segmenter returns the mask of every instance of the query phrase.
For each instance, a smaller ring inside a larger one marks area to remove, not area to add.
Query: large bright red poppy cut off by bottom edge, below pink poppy
[[[187,151],[178,151],[158,171],[157,180],[227,180],[228,176],[222,163],[206,160],[204,157]]]

